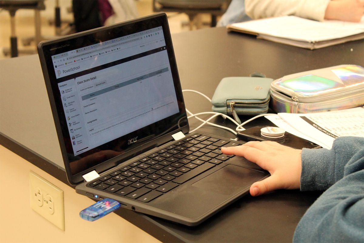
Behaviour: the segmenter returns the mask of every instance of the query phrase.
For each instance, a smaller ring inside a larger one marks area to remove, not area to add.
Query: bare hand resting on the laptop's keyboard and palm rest
[[[301,177],[301,151],[272,141],[252,141],[244,145],[221,148],[221,152],[245,157],[269,171],[270,177],[250,187],[250,195],[258,196],[276,189],[298,189]]]

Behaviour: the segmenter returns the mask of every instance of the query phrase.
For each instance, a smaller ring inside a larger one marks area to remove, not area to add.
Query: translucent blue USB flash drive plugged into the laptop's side
[[[106,198],[102,201],[98,201],[90,207],[83,209],[80,212],[80,217],[84,220],[95,221],[118,209],[119,207],[120,203],[113,199]]]

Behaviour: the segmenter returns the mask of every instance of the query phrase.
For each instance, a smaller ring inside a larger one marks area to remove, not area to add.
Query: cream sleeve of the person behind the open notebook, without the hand
[[[329,0],[245,0],[246,14],[252,19],[294,15],[323,21]]]

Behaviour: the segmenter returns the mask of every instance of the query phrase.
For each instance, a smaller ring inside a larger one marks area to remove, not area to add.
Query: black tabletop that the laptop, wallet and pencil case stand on
[[[198,90],[209,97],[223,77],[262,72],[276,79],[339,64],[364,66],[363,40],[312,51],[228,33],[225,28],[184,32],[172,39],[182,89]],[[0,75],[1,145],[68,184],[37,55],[1,60]],[[193,113],[211,110],[211,104],[198,94],[185,93],[184,98]],[[234,128],[222,118],[215,122]],[[198,124],[190,120],[191,128]],[[246,127],[262,124],[270,122],[260,118]],[[211,126],[204,126],[201,132],[234,138],[232,133]],[[127,209],[116,214],[162,242],[290,242],[298,221],[318,195],[280,190],[245,196],[197,227]]]

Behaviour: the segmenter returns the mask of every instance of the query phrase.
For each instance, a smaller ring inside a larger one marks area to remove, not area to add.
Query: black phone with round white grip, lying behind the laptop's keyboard
[[[269,126],[255,126],[253,128],[246,129],[244,131],[238,132],[237,137],[242,141],[274,141],[282,145],[289,146],[294,149],[317,149],[321,148],[320,145],[314,144],[308,140],[297,137],[291,133],[285,132],[284,136],[281,138],[267,138],[261,135],[260,129]]]

